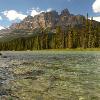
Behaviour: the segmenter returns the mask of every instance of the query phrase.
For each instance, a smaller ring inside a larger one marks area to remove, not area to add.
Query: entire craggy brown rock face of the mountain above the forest
[[[84,16],[81,15],[72,15],[68,9],[64,9],[61,14],[58,14],[56,11],[43,12],[34,17],[27,16],[20,23],[15,23],[11,25],[11,29],[28,29],[34,30],[35,28],[55,28],[56,26],[66,27],[66,26],[75,26],[80,25],[85,20]]]

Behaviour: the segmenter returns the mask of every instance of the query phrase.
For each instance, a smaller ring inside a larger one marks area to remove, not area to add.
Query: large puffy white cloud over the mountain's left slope
[[[24,15],[20,12],[17,12],[16,10],[8,10],[2,12],[10,21],[20,19],[23,20],[27,15]]]

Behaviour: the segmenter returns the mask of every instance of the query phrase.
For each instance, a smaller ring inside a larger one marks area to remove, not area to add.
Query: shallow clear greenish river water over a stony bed
[[[100,52],[2,52],[0,100],[100,100]]]

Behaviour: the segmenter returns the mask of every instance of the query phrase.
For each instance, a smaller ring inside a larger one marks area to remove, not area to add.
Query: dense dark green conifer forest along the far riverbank
[[[87,15],[88,17],[88,15]],[[60,26],[55,32],[41,29],[31,37],[17,38],[8,42],[0,42],[0,50],[42,50],[64,48],[100,48],[100,24],[86,20],[85,25],[67,27],[63,31]]]

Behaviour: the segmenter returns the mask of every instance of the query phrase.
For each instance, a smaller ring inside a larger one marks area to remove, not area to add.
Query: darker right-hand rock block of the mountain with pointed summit
[[[83,21],[85,20],[85,17],[82,15],[73,15],[70,14],[68,9],[65,9],[61,12],[60,14],[60,20],[59,20],[59,25],[62,27],[66,26],[75,26],[75,25],[81,25],[83,24]]]

